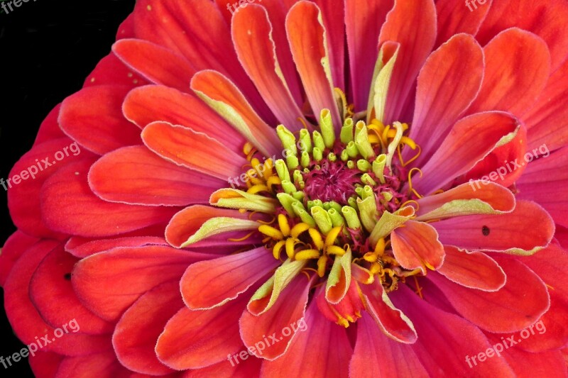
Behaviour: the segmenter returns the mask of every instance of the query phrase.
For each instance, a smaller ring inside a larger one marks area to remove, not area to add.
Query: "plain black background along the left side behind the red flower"
[[[41,121],[107,55],[121,21],[134,0],[29,0],[12,12],[0,13],[0,177],[27,152]],[[16,228],[0,187],[0,245]],[[23,345],[13,335],[4,313],[0,289],[0,355]],[[32,377],[27,359],[0,377]]]

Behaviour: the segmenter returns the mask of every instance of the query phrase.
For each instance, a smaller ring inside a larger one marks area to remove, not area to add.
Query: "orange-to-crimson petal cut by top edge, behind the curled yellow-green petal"
[[[394,1],[346,0],[345,27],[347,47],[349,48],[349,67],[353,91],[354,111],[367,109],[368,94],[371,91],[373,71],[378,58],[375,48],[381,26],[388,11],[393,9]]]

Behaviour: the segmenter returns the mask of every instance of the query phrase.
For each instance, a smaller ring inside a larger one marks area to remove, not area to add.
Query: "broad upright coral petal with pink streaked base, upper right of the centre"
[[[422,148],[415,165],[420,165],[442,143],[475,99],[483,76],[484,52],[471,35],[454,35],[428,57],[417,79],[409,135]]]

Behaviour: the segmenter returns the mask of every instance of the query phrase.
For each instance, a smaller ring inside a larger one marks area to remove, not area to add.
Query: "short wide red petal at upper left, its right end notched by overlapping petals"
[[[62,130],[99,155],[125,145],[141,144],[140,130],[122,115],[122,101],[129,90],[118,85],[99,85],[72,94],[61,105]]]

